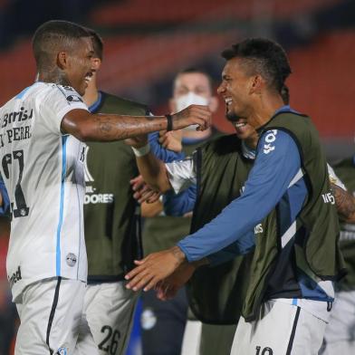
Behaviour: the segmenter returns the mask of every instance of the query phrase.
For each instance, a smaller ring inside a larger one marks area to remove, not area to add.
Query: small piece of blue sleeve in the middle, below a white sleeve
[[[164,212],[167,216],[184,216],[194,209],[197,196],[197,186],[191,185],[179,194],[168,191],[163,196]]]

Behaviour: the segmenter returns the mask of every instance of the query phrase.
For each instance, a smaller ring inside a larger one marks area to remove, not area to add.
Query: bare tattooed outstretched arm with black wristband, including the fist
[[[166,116],[91,114],[86,110],[71,110],[63,117],[61,128],[63,133],[82,141],[112,141],[156,130],[181,130],[192,124],[197,124],[199,130],[206,130],[210,121],[210,110],[200,105],[191,105],[171,115],[171,124]]]

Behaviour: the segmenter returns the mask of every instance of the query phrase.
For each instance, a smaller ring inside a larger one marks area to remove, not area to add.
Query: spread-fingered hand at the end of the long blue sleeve
[[[174,273],[184,261],[185,254],[178,246],[149,254],[144,259],[134,262],[138,266],[126,274],[125,279],[129,280],[126,287],[133,291],[138,291],[141,288],[144,291],[149,291],[159,281]]]

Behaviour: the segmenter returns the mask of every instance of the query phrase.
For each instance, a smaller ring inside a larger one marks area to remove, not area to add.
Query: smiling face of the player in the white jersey
[[[85,93],[88,82],[91,80],[93,69],[92,64],[92,42],[90,37],[78,39],[75,48],[68,55],[68,65],[65,69],[65,76],[69,84],[81,95]]]

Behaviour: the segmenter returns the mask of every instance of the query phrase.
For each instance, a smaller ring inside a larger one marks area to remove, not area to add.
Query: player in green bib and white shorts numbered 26
[[[149,116],[146,105],[100,91],[97,76],[103,58],[101,36],[91,34],[92,73],[83,100],[92,113]],[[171,133],[171,132],[169,132]],[[149,135],[150,148],[164,161],[181,158],[158,142],[158,132]],[[88,286],[77,354],[124,354],[130,340],[138,294],[124,287],[124,273],[133,260],[142,257],[139,206],[130,180],[138,175],[132,149],[123,141],[87,143],[84,230],[88,254]]]

